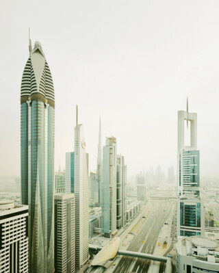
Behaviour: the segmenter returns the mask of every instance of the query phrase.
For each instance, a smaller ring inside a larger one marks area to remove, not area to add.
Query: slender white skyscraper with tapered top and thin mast
[[[83,125],[75,127],[74,157],[75,189],[75,267],[77,270],[88,261],[89,198],[88,155],[83,135]]]

